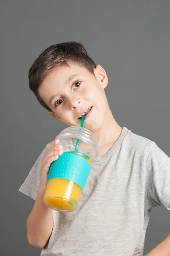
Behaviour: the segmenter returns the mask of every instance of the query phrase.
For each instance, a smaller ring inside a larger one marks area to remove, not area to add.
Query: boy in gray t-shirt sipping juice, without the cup
[[[48,256],[142,256],[152,207],[170,209],[170,158],[156,143],[120,127],[108,105],[105,70],[82,44],[53,45],[34,61],[29,86],[54,118],[69,126],[91,108],[84,127],[94,133],[94,161],[77,209],[61,213],[43,203],[49,167],[62,154],[46,145],[20,192],[35,200],[27,219],[28,242]],[[170,255],[170,236],[148,256]],[[169,250],[169,251],[168,251]]]

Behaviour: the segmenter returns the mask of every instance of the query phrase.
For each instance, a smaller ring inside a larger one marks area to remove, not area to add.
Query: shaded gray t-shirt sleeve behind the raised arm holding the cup
[[[37,161],[34,163],[34,166],[26,177],[26,180],[19,189],[20,192],[30,196],[34,200],[37,198],[38,187],[40,186],[41,160],[48,150],[48,145],[46,145]]]

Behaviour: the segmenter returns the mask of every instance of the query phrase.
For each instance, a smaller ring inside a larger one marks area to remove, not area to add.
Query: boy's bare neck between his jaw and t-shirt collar
[[[108,152],[108,150],[119,138],[121,132],[122,127],[119,126],[115,121],[111,109],[108,106],[108,110],[102,126],[97,131],[93,132],[98,141],[99,156],[102,156]]]

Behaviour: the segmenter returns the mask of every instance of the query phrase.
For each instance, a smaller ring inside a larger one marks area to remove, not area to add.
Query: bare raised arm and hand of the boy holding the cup
[[[48,242],[53,230],[52,209],[43,202],[46,189],[46,182],[51,163],[62,154],[62,146],[58,145],[59,140],[54,140],[48,147],[48,151],[41,160],[40,186],[34,207],[27,219],[28,242],[34,247],[43,248]]]

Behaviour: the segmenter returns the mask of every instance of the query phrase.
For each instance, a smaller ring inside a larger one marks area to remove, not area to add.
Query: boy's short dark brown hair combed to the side
[[[51,111],[51,109],[41,99],[38,89],[50,71],[57,66],[69,66],[68,61],[73,61],[94,74],[96,64],[88,56],[83,45],[74,41],[51,45],[40,54],[29,70],[29,87],[40,104],[48,111]]]

